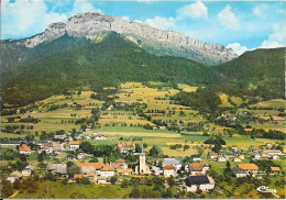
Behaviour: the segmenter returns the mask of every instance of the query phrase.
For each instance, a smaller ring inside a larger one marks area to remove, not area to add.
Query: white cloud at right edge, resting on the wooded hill
[[[278,24],[273,25],[273,33],[268,35],[268,38],[263,41],[260,48],[277,48],[286,46],[286,26]]]

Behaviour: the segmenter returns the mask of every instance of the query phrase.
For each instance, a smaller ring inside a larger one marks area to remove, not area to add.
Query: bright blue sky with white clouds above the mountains
[[[1,38],[30,37],[53,22],[89,11],[177,31],[238,55],[286,46],[286,1],[271,0],[2,0]]]

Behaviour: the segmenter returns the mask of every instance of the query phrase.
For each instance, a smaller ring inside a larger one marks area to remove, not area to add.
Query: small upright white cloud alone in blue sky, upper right
[[[230,30],[238,30],[240,27],[240,23],[238,18],[233,12],[231,12],[231,7],[228,4],[220,13],[218,14],[219,22],[227,26]]]

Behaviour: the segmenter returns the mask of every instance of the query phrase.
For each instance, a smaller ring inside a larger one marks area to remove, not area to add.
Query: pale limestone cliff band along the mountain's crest
[[[180,56],[206,64],[226,63],[238,57],[232,49],[219,44],[206,44],[183,33],[160,30],[141,22],[130,22],[98,12],[79,13],[69,18],[66,23],[53,23],[43,33],[24,40],[24,45],[33,48],[65,33],[92,40],[105,32],[117,32],[156,55]]]

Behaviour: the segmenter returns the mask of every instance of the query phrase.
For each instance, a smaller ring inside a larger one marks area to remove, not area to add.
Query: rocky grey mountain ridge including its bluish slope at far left
[[[207,65],[217,65],[237,57],[232,49],[219,44],[206,44],[182,33],[152,27],[141,22],[129,22],[119,16],[107,16],[98,12],[76,14],[66,23],[53,23],[37,35],[23,40],[6,40],[1,43],[0,74],[47,55],[41,44],[50,43],[63,35],[75,41],[87,38],[101,41],[107,32],[119,33],[132,43],[155,55],[185,57]],[[65,49],[65,48],[64,48]],[[53,48],[54,52],[63,49]],[[15,54],[16,53],[16,54]]]

